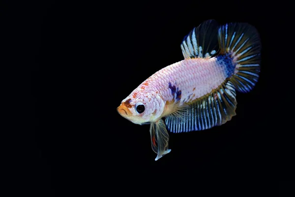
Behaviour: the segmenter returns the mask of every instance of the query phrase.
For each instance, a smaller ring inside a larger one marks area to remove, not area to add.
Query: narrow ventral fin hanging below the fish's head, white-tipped
[[[151,123],[149,132],[151,139],[151,148],[155,153],[158,154],[155,159],[155,161],[157,161],[171,151],[171,149],[168,149],[169,134],[162,119],[157,122]]]

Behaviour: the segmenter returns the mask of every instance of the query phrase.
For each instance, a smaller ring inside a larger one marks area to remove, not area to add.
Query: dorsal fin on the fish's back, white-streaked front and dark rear
[[[211,58],[218,50],[218,24],[207,20],[183,38],[180,45],[184,59]]]

